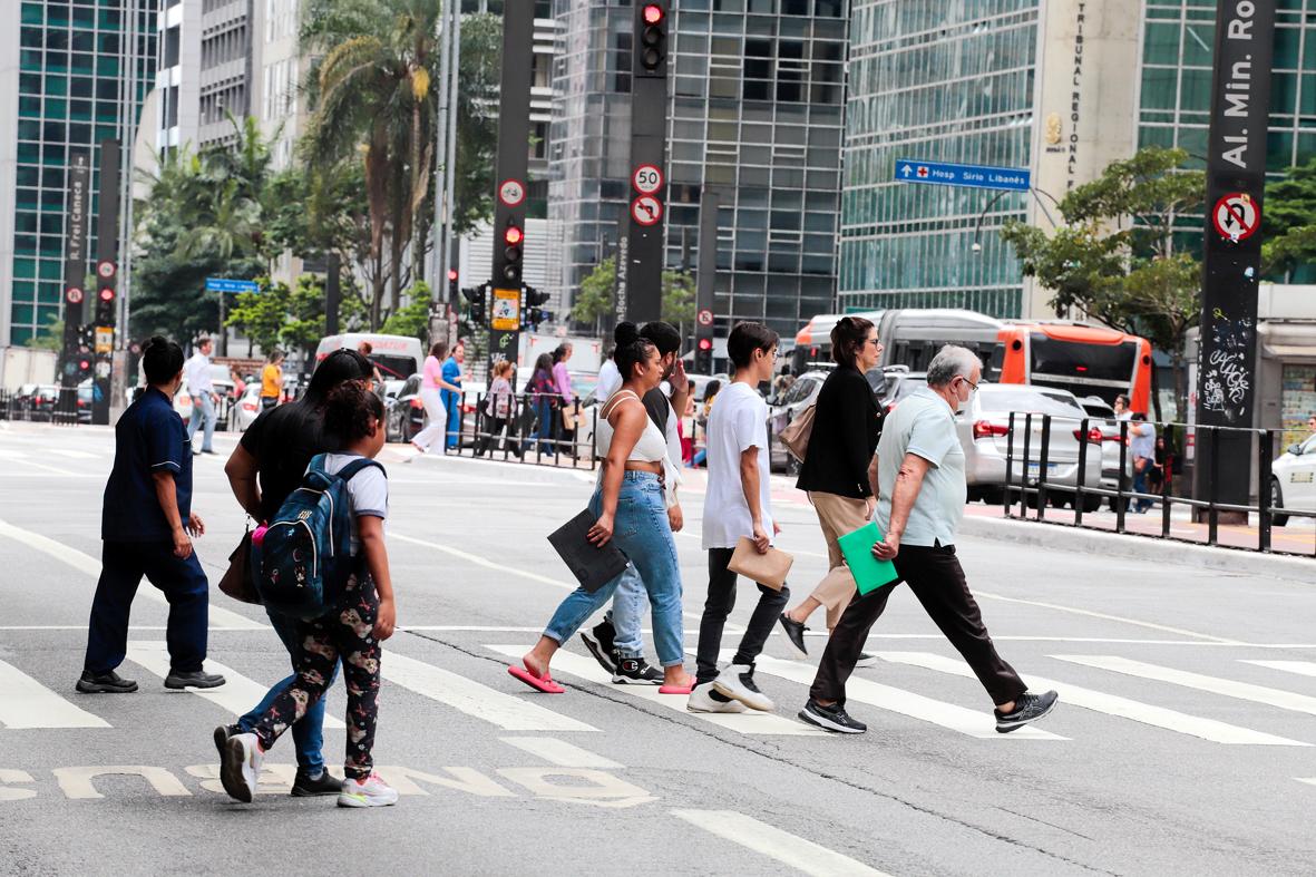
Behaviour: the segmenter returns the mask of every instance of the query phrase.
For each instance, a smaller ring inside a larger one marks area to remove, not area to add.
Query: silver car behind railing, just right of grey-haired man
[[[1079,427],[1087,413],[1073,392],[1021,385],[982,385],[969,404],[955,417],[959,444],[965,449],[965,474],[970,499],[1001,502],[1005,487],[1005,457],[1009,449],[1009,415],[1015,412],[1013,466],[1011,482],[1019,485],[1024,464],[1024,437],[1026,415],[1050,415],[1050,444],[1046,449],[1046,487],[1055,492],[1050,499],[1073,499],[1078,485],[1079,442],[1088,442],[1083,485],[1101,483],[1101,431],[1088,425],[1082,435]],[[1028,453],[1028,485],[1036,487],[1041,479],[1042,417],[1032,420],[1032,438]],[[1036,495],[1030,496],[1036,503]],[[1084,496],[1084,511],[1096,511],[1100,496]]]

